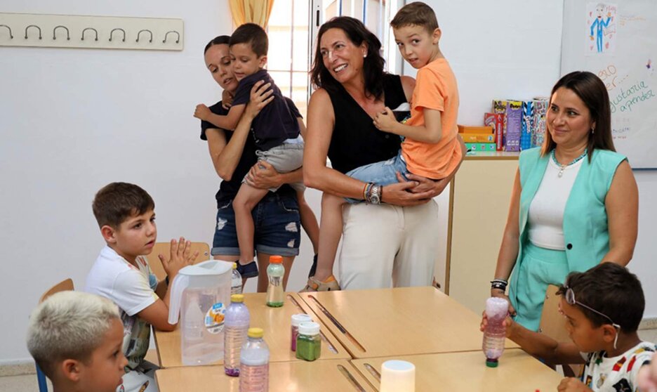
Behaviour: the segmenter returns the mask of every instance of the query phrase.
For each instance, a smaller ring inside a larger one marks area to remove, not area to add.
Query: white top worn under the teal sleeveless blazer
[[[582,166],[583,157],[571,166],[566,166],[561,177],[561,167],[550,157],[543,180],[529,205],[529,241],[537,247],[564,250],[564,210],[573,189],[573,183]]]

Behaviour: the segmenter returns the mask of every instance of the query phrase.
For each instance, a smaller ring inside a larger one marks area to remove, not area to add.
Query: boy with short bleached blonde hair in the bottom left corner
[[[128,360],[111,301],[83,292],[53,294],[32,311],[27,349],[55,392],[114,392]]]

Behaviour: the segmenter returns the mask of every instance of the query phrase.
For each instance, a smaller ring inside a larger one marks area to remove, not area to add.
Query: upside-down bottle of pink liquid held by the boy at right
[[[482,350],[486,355],[486,366],[497,367],[498,359],[504,352],[506,327],[504,320],[509,313],[509,302],[498,297],[486,299],[486,318],[488,324],[484,329],[484,342]]]

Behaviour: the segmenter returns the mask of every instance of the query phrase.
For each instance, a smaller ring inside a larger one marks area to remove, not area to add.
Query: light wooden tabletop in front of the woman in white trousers
[[[298,295],[354,358],[482,349],[482,316],[433,287]],[[340,326],[331,321],[319,304]],[[505,346],[518,347],[508,339]]]

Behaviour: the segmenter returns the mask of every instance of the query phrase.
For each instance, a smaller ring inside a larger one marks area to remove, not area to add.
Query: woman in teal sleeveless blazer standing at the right
[[[548,285],[598,263],[627,265],[638,226],[637,183],[613,148],[602,81],[590,72],[559,79],[547,125],[543,146],[520,155],[491,281],[491,296],[506,298],[509,286],[512,315],[534,331]]]

